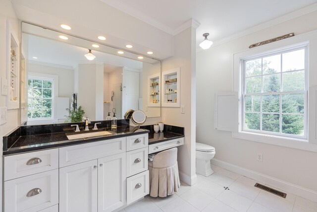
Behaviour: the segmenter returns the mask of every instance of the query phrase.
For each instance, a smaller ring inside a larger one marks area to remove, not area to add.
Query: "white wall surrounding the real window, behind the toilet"
[[[317,191],[316,152],[235,139],[230,132],[213,129],[214,94],[233,90],[233,54],[270,38],[316,30],[316,20],[317,11],[197,54],[197,141],[214,146],[216,159]],[[263,153],[263,162],[257,161],[257,152]]]

